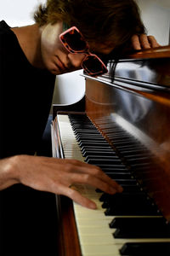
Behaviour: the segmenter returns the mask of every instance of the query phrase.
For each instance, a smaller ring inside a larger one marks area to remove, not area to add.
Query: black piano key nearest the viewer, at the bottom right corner
[[[170,255],[170,242],[127,242],[120,253],[126,256],[167,256]]]

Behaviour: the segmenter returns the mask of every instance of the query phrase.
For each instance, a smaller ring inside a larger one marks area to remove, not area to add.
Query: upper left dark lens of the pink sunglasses
[[[75,51],[81,51],[87,49],[87,44],[83,40],[81,34],[77,32],[76,29],[71,30],[70,32],[65,33],[61,39],[63,43],[68,44],[68,46]]]

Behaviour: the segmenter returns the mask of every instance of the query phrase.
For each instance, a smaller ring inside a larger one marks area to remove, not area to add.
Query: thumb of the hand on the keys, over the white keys
[[[89,209],[96,209],[97,206],[94,201],[91,201],[87,197],[82,196],[77,190],[66,188],[64,186],[60,187],[60,195],[66,195],[71,198],[71,200],[76,201],[82,207],[88,207]]]

